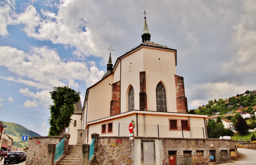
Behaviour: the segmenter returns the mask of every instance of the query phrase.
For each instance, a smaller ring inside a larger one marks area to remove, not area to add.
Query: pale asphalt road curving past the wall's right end
[[[256,150],[238,148],[239,158],[235,160],[235,163],[225,163],[225,165],[256,165]]]

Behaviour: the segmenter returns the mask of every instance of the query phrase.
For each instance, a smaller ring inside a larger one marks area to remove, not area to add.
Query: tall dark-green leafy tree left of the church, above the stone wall
[[[79,92],[69,86],[54,87],[50,92],[53,105],[50,105],[49,136],[60,136],[65,133],[71,122],[76,104],[80,100]]]

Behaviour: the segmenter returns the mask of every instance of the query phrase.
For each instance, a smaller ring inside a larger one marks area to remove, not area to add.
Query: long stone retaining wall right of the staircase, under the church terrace
[[[132,141],[129,140],[129,137],[99,137],[98,134],[92,134],[92,138],[95,138],[95,165],[132,164]],[[175,151],[177,156],[183,155],[183,151],[190,151],[194,165],[207,164],[210,150],[220,152],[221,150],[230,151],[230,149],[235,149],[235,155],[238,154],[235,148],[236,141],[229,139],[135,137],[136,145],[140,145],[142,139],[155,141],[156,165],[169,165],[168,162],[164,163],[160,160],[160,158],[162,160],[168,159],[168,151]],[[116,143],[115,140],[122,140],[122,143]],[[211,144],[213,144],[213,147],[211,147]],[[140,146],[137,147],[138,151],[135,151],[136,148],[134,148],[133,152],[135,154],[134,158],[137,158],[137,163],[140,162],[140,148]],[[203,151],[203,156],[194,155],[197,150]]]

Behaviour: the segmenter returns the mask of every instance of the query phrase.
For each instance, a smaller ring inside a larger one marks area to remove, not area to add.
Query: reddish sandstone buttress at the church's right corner
[[[185,96],[184,78],[174,75],[176,86],[176,104],[178,113],[188,113],[188,101]]]

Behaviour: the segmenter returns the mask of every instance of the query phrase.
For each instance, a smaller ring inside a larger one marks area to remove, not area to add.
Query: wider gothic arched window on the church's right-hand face
[[[156,111],[167,112],[166,90],[161,83],[156,86]]]

